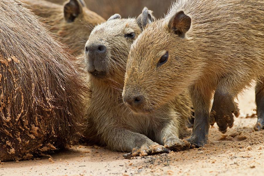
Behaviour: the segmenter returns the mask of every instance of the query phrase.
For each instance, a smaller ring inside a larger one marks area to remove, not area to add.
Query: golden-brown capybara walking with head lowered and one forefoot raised
[[[195,111],[192,136],[207,143],[216,121],[225,132],[239,115],[234,98],[258,80],[258,123],[264,127],[264,1],[179,0],[131,46],[123,98],[141,96],[141,111],[159,108],[188,89]],[[133,98],[133,97],[132,97]],[[133,108],[137,108],[133,106]]]

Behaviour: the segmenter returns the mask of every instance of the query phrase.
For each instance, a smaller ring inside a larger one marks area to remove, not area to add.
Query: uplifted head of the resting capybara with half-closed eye
[[[122,19],[119,14],[96,26],[85,45],[87,71],[92,80],[122,85],[130,46],[143,27],[154,21],[152,11],[143,9],[138,18]]]

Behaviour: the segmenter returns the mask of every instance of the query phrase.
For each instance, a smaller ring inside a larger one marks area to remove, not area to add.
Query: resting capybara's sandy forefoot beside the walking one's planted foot
[[[165,141],[164,146],[170,150],[181,151],[181,150],[188,150],[191,146],[191,143],[179,138],[172,137]]]

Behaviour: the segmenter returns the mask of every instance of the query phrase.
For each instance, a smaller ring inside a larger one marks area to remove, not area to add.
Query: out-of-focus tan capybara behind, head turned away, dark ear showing
[[[59,36],[60,42],[77,56],[83,53],[92,28],[104,18],[90,11],[83,0],[69,0],[58,5],[44,0],[22,0],[37,16],[44,18],[48,30]],[[43,19],[42,19],[43,21]]]

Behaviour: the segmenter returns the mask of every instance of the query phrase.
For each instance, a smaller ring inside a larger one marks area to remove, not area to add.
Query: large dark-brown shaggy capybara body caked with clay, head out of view
[[[0,1],[0,160],[31,159],[80,138],[87,88],[24,5]]]

